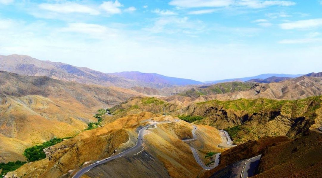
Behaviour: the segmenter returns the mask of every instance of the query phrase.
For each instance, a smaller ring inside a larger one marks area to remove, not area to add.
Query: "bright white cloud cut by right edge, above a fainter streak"
[[[280,27],[284,30],[310,29],[310,28],[317,28],[321,26],[322,26],[322,19],[308,19],[308,20],[301,20],[301,21],[294,21],[294,22],[280,24]]]

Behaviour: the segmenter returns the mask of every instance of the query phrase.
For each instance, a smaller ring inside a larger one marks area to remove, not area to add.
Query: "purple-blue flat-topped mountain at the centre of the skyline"
[[[135,80],[135,81],[142,81],[146,83],[152,82],[152,83],[179,85],[179,86],[203,84],[203,82],[200,82],[200,81],[181,79],[181,78],[175,78],[175,77],[167,77],[157,73],[142,73],[142,72],[132,71],[132,72],[109,73],[109,74],[123,77],[126,79]]]

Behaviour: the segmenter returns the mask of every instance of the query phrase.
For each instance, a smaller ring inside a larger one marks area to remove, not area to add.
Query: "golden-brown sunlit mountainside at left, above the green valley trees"
[[[130,89],[0,71],[0,161],[23,161],[26,147],[52,136],[74,136],[97,121],[97,109],[139,95]]]

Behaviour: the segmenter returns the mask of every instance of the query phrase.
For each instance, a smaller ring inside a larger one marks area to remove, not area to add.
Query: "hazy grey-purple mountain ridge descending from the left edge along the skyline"
[[[94,71],[86,67],[76,67],[64,63],[41,61],[26,55],[0,55],[0,70],[21,75],[47,76],[62,81],[75,81],[85,84],[117,86],[122,88],[135,86],[162,88],[164,86],[169,86],[158,83],[129,80],[115,75]]]

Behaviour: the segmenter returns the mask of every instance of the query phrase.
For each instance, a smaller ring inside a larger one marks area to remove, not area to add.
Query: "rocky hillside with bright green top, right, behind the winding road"
[[[322,125],[321,97],[300,100],[239,99],[212,100],[188,106],[158,98],[133,97],[111,108],[114,114],[131,109],[181,116],[189,122],[226,129],[235,142],[243,143],[264,136],[298,137]]]

